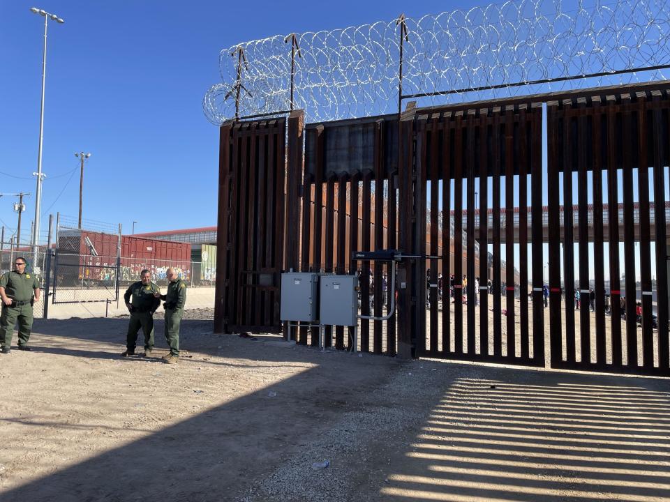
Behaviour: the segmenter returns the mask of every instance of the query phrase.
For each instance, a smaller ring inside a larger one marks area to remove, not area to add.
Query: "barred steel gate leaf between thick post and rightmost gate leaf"
[[[412,333],[417,333],[414,342],[417,355],[544,366],[541,103],[417,112],[405,121],[411,121],[412,125],[412,176],[417,179],[414,194],[417,229],[412,234],[411,246],[419,255],[438,254],[439,244],[442,251],[441,263],[436,259],[419,259],[411,265],[413,277],[422,280],[415,290],[417,305],[419,309],[429,305],[428,322],[426,315],[417,312],[416,324],[412,326]],[[410,132],[409,127],[407,130]],[[406,144],[410,146],[410,138]],[[493,209],[491,241],[487,217],[489,181]],[[501,192],[501,181],[505,182],[505,192]],[[530,241],[529,186],[535,196]],[[479,195],[478,206],[475,192]],[[501,200],[505,202],[505,215],[514,214],[515,206],[519,206],[518,229],[509,224],[509,219],[500,217]],[[429,248],[426,223],[431,233]],[[512,266],[515,241],[519,243],[522,264],[516,278]],[[532,257],[528,254],[529,242],[533,245]],[[491,273],[487,259],[489,243],[493,257]],[[407,241],[405,245],[409,247]],[[507,261],[504,274],[501,246]],[[453,268],[450,254],[454,256]],[[459,259],[461,256],[463,259]],[[524,266],[528,263],[535,264],[530,277]],[[445,294],[446,287],[442,287],[441,304],[436,284],[439,273],[442,282],[454,275],[449,280],[452,292]],[[476,277],[480,278],[480,285],[476,285]],[[489,277],[495,278],[491,295]],[[519,284],[528,284],[529,279],[533,285],[532,322],[529,322],[528,301],[517,303],[515,298]],[[426,336],[421,336],[422,333]]]

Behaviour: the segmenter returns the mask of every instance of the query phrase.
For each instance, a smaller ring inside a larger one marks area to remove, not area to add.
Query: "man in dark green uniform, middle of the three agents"
[[[148,270],[140,272],[140,279],[131,284],[124,294],[126,307],[131,312],[131,321],[128,324],[126,351],[121,353],[123,357],[135,355],[137,332],[140,327],[144,333],[144,353],[140,354],[140,357],[151,356],[151,351],[154,349],[154,312],[158,305],[161,305],[161,301],[155,295],[160,295],[161,289],[151,282],[151,272]],[[131,295],[133,303],[131,303]]]

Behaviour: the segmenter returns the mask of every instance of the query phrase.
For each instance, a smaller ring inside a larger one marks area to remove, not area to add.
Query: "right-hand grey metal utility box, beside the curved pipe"
[[[357,326],[358,277],[355,275],[322,275],[319,296],[321,324]]]

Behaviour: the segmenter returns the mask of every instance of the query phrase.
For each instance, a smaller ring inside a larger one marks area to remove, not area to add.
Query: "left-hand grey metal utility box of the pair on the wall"
[[[283,273],[279,318],[282,321],[317,321],[318,285],[318,273]]]

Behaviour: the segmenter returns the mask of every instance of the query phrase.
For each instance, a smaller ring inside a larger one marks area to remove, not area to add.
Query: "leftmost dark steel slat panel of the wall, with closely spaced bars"
[[[281,330],[285,137],[285,119],[221,127],[217,332]]]

